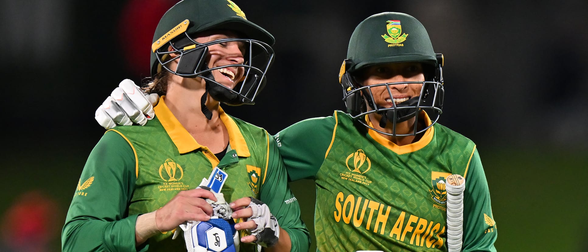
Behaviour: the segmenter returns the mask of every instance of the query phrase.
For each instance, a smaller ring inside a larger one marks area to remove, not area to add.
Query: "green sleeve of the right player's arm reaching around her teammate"
[[[302,120],[274,136],[290,181],[315,179],[333,141],[336,115]]]

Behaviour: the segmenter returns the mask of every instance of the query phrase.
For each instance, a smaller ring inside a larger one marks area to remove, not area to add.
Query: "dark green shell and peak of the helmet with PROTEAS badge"
[[[349,72],[380,63],[437,63],[425,26],[399,12],[382,12],[359,23],[351,35],[347,58],[352,63]]]

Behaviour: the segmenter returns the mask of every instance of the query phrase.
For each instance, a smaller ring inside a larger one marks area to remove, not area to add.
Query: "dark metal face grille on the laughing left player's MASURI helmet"
[[[208,46],[227,42],[245,43],[245,61],[241,64],[230,64],[208,68]],[[161,68],[168,70],[174,75],[184,78],[202,78],[209,86],[209,93],[212,98],[231,106],[252,105],[258,93],[263,89],[266,82],[266,72],[274,60],[273,49],[266,43],[255,39],[228,38],[215,41],[199,43],[194,41],[188,33],[178,36],[177,39],[168,42],[168,45],[161,46],[156,52],[156,59]],[[168,48],[171,50],[168,51]],[[177,56],[171,57],[171,53]],[[178,61],[176,69],[169,67],[170,63]],[[213,70],[221,68],[243,68],[243,78],[233,89],[229,89],[217,82]]]

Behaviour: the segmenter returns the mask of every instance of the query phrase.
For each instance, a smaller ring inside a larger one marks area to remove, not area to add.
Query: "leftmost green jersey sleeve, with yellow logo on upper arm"
[[[135,180],[131,146],[118,133],[106,132],[83,167],[62,230],[62,250],[136,251],[137,215],[127,216]]]

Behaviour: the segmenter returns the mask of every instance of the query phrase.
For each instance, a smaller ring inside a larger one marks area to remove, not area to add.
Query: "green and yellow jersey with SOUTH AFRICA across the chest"
[[[318,251],[447,251],[450,174],[466,179],[462,251],[496,251],[476,146],[447,127],[436,124],[416,143],[397,146],[336,111],[274,137],[290,180],[316,182]]]

